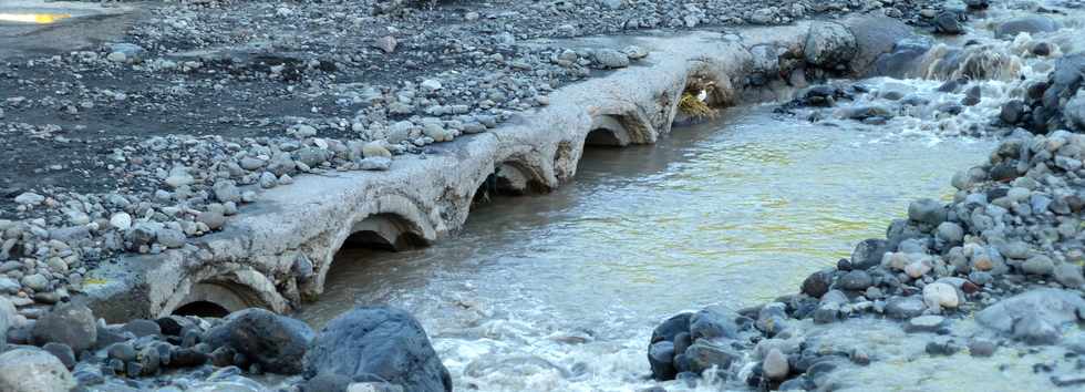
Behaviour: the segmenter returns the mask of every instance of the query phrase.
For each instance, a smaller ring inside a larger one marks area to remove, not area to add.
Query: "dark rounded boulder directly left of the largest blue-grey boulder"
[[[267,372],[297,374],[313,336],[304,322],[252,308],[227,316],[226,322],[207,332],[206,342],[229,347]]]

